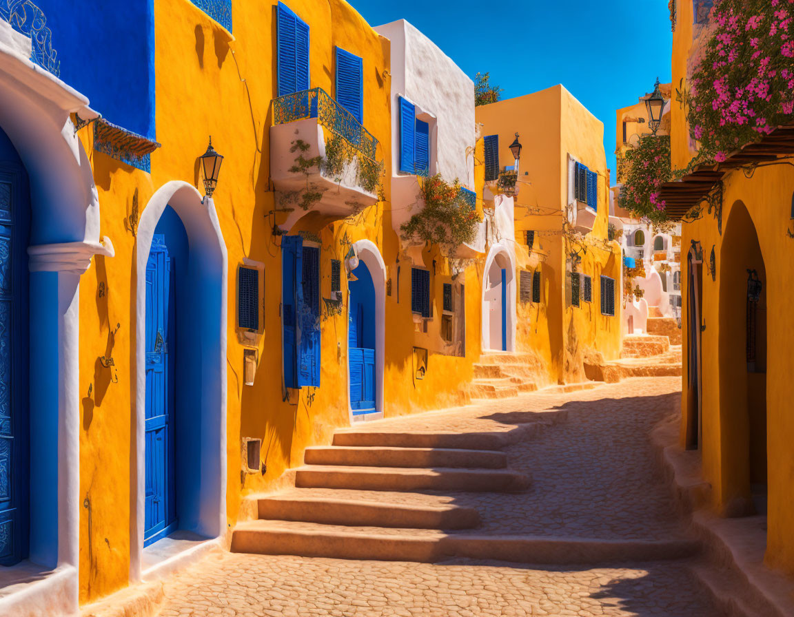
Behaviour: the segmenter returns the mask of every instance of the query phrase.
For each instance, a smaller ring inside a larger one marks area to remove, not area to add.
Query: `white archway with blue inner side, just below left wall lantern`
[[[182,231],[179,232],[179,228]],[[179,240],[179,233],[186,236]],[[227,255],[218,215],[187,182],[168,182],[148,201],[137,228],[136,268],[136,437],[133,469],[130,577],[141,578],[146,542],[147,466],[147,266],[154,244],[171,234],[182,253],[174,316],[175,439],[173,474],[177,484],[176,528],[214,540],[225,532],[226,517],[226,297]],[[181,302],[180,302],[181,300]],[[185,333],[179,335],[180,332]],[[191,335],[187,333],[191,332]],[[149,337],[151,338],[151,337]],[[164,347],[164,344],[160,347]],[[181,428],[180,428],[181,427]],[[175,559],[178,557],[174,557]],[[168,560],[150,566],[168,569]]]

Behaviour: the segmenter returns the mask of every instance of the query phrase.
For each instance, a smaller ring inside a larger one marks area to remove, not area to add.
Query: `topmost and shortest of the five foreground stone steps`
[[[337,429],[333,433],[334,446],[501,450],[507,443],[505,436],[499,433],[367,431],[360,428]]]

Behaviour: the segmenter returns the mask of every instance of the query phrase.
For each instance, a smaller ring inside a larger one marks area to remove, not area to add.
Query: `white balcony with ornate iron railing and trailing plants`
[[[273,101],[270,173],[288,232],[306,215],[322,225],[378,201],[378,140],[322,88]]]

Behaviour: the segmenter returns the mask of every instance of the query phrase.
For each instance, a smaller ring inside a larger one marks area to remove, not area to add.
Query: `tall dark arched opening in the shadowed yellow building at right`
[[[726,515],[765,514],[766,269],[741,201],[730,209],[719,255],[721,502]]]

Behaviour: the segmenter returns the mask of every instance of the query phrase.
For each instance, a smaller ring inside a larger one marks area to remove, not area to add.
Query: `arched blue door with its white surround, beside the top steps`
[[[353,274],[359,280],[349,282],[348,286],[348,408],[351,423],[379,420],[384,417],[386,340],[386,264],[378,247],[370,240],[359,240],[353,244],[353,250],[359,259]],[[358,356],[363,358],[372,347],[374,347],[372,366],[374,400],[370,406],[368,403],[360,402],[368,398],[366,391],[370,387],[367,384],[369,377],[367,375],[357,377],[356,373],[359,370],[368,371],[368,362],[362,360],[359,363]]]

